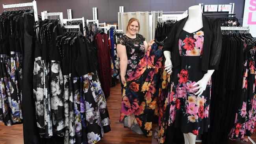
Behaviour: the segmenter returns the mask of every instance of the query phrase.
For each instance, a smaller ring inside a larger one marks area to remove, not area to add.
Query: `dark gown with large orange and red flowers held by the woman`
[[[152,135],[152,120],[157,113],[158,81],[163,54],[153,44],[122,86],[120,122],[139,134]]]

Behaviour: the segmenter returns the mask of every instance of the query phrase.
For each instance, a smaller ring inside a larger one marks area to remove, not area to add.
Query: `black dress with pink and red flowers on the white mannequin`
[[[183,30],[180,33],[178,46],[181,63],[174,69],[168,94],[168,126],[180,127],[182,133],[194,135],[206,132],[210,126],[211,81],[208,81],[202,95],[195,95],[197,90],[193,90],[193,85],[204,76],[201,70],[203,43],[202,29],[193,33]]]

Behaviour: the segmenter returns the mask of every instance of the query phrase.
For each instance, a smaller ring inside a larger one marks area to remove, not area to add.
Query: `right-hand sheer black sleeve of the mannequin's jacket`
[[[222,33],[219,20],[213,22],[213,39],[211,43],[210,59],[208,70],[218,70],[221,60]]]

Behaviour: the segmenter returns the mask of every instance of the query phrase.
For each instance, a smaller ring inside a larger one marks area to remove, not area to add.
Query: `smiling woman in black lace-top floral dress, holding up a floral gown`
[[[149,46],[153,41],[148,44],[145,37],[138,34],[139,29],[139,20],[131,18],[126,35],[117,42],[122,82],[120,122],[136,133],[151,136],[152,119],[157,111],[158,68],[161,68],[163,55],[157,44]]]

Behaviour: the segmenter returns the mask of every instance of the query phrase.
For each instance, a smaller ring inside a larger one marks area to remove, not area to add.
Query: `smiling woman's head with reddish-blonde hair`
[[[129,35],[136,35],[139,32],[139,20],[137,18],[130,18],[127,27],[126,33]]]

